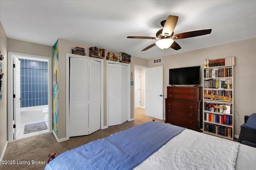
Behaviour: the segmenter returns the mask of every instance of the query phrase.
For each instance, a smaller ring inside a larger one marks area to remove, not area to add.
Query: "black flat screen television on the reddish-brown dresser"
[[[200,66],[169,69],[170,85],[200,85]]]

